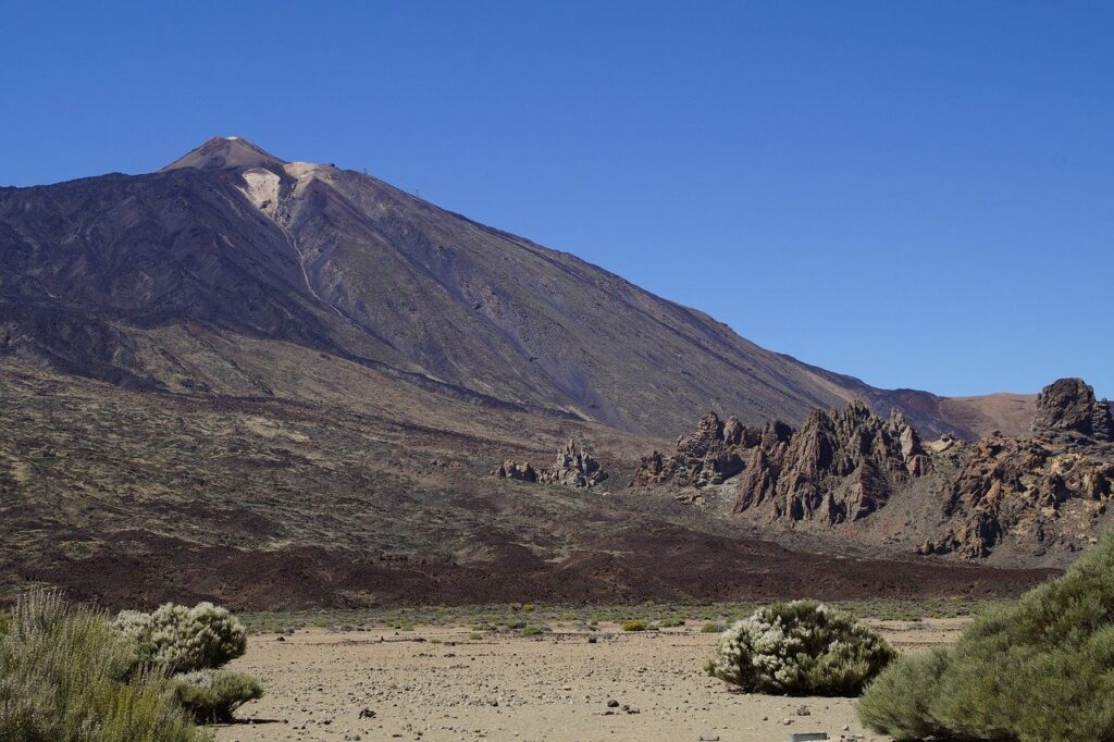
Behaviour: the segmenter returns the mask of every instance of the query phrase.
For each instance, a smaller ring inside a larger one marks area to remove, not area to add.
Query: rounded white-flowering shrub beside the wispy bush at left
[[[141,660],[170,674],[219,667],[247,647],[244,625],[212,603],[193,608],[167,603],[149,614],[124,611],[113,624],[138,645]]]

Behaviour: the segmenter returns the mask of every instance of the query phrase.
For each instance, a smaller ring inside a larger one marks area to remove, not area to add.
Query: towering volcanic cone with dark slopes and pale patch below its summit
[[[0,255],[0,354],[130,388],[266,397],[266,370],[218,348],[263,340],[655,436],[705,409],[795,424],[852,399],[926,435],[1030,414],[1025,397],[946,400],[810,367],[568,253],[238,137],[158,173],[2,188]]]

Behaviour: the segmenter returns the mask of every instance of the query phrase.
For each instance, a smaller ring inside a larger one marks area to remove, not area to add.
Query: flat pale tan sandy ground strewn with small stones
[[[955,642],[966,621],[872,623],[898,650],[918,652]],[[216,739],[889,739],[859,724],[851,699],[742,694],[705,676],[717,634],[700,629],[558,626],[521,636],[418,626],[255,635],[232,667],[258,677],[266,696],[238,712],[242,723],[218,728]]]

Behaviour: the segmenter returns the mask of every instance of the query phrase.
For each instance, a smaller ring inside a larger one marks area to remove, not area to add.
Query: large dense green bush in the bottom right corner
[[[867,689],[863,722],[913,736],[930,726],[971,740],[1114,740],[1114,534],[1061,577],[984,614],[936,677],[902,660]],[[907,729],[908,726],[908,729]]]

